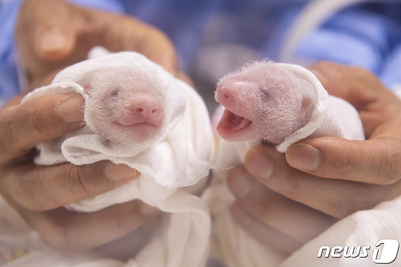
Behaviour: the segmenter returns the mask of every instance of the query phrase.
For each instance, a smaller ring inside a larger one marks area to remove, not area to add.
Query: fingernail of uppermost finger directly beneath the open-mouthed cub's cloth
[[[290,146],[286,152],[286,159],[291,167],[298,170],[314,170],[319,162],[320,150],[308,144]]]

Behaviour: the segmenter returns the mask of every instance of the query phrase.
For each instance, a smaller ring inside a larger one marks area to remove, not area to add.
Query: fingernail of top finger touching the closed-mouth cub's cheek
[[[71,97],[59,105],[59,112],[61,117],[67,123],[83,121],[83,112],[81,108],[85,104],[85,100],[81,95]]]

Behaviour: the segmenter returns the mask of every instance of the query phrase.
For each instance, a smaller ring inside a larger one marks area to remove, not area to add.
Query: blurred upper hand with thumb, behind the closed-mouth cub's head
[[[162,32],[134,18],[81,8],[65,0],[25,0],[15,32],[29,89],[49,75],[83,61],[92,47],[112,52],[137,51],[174,75],[174,48]]]

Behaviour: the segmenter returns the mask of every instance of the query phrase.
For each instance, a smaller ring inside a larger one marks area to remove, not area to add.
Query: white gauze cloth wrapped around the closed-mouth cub
[[[95,73],[122,66],[157,75],[165,85],[167,99],[182,95],[184,109],[182,103],[168,103],[164,134],[140,146],[110,146],[104,144],[87,123],[83,129],[38,145],[40,154],[35,163],[81,165],[111,160],[135,168],[141,173],[137,179],[110,192],[73,203],[71,207],[80,212],[93,212],[134,199],[156,206],[169,212],[166,215],[169,219],[161,234],[129,264],[202,266],[208,254],[210,215],[204,200],[191,194],[185,186],[196,184],[209,174],[215,144],[205,103],[192,87],[139,53],[121,52],[67,67],[50,85],[32,91],[22,102],[41,95],[71,92],[80,93],[87,99],[83,86]]]

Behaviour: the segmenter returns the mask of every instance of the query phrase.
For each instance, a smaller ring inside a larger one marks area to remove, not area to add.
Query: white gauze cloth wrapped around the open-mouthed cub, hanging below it
[[[310,122],[279,144],[276,149],[286,152],[287,148],[307,137],[336,136],[349,140],[365,140],[358,112],[350,103],[328,95],[313,73],[298,65],[276,63],[289,68],[300,78],[302,89],[310,98],[314,110]],[[220,108],[220,113],[222,109]],[[220,119],[221,116],[214,116]],[[213,125],[217,125],[213,121]],[[204,198],[210,203],[212,222],[211,248],[215,257],[227,266],[277,266],[285,256],[271,251],[238,225],[230,214],[230,206],[235,201],[227,183],[227,169],[241,166],[248,150],[257,146],[254,142],[229,142],[220,139],[213,170],[213,180]],[[219,204],[215,204],[219,203]],[[317,253],[317,252],[316,252]]]

